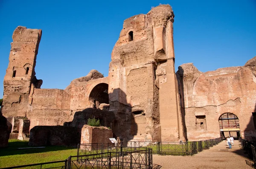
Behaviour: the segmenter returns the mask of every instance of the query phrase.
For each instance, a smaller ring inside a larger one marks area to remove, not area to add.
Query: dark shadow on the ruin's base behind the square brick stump
[[[137,135],[138,128],[134,115],[131,113],[131,105],[127,104],[125,93],[121,89],[114,89],[109,95],[116,99],[116,101],[109,99],[110,111],[87,108],[76,112],[73,121],[65,122],[64,126],[77,127],[81,135],[81,128],[84,124],[87,124],[88,118],[95,117],[100,120],[101,126],[111,128],[115,138],[119,137],[122,141],[133,139],[134,135]],[[120,100],[122,100],[122,103],[120,103]]]

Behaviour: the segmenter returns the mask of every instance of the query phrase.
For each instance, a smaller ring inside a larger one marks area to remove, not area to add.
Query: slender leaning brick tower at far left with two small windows
[[[41,29],[18,26],[13,32],[9,65],[3,81],[3,115],[26,117],[32,104],[34,88],[42,80],[35,77],[35,62],[41,39]]]

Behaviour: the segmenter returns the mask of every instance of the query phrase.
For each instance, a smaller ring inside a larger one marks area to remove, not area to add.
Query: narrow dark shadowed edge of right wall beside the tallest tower
[[[180,110],[181,110],[181,115],[182,115],[182,125],[183,125],[183,134],[186,139],[187,138],[187,130],[186,130],[186,121],[185,121],[185,102],[184,102],[184,84],[183,84],[183,76],[184,76],[184,70],[182,67],[179,66],[179,70],[176,72],[177,76],[177,82],[178,82],[178,88],[179,88],[179,95],[180,95]]]

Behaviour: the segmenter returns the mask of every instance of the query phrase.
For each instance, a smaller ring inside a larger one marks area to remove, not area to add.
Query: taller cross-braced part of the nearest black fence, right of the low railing
[[[122,152],[70,156],[70,169],[152,169],[152,149],[122,147]]]

